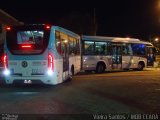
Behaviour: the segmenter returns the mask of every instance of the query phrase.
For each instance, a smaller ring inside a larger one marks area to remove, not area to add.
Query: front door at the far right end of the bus
[[[153,66],[155,60],[155,48],[147,46],[147,66]]]

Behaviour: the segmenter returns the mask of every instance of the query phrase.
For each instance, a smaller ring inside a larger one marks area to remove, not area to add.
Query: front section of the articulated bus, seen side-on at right
[[[82,36],[82,69],[98,73],[112,69],[143,70],[153,65],[154,47],[133,38]],[[152,59],[148,59],[149,56]]]

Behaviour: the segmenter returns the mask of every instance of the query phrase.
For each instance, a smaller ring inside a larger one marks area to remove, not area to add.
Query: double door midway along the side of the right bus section
[[[122,69],[122,46],[112,43],[112,68]]]

